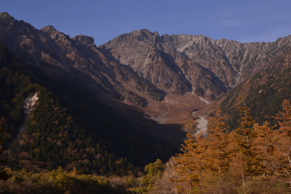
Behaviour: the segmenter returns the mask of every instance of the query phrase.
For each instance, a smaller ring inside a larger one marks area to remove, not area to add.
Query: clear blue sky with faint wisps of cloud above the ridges
[[[92,36],[101,45],[144,28],[160,35],[202,34],[238,42],[272,42],[291,35],[290,8],[290,0],[9,0],[1,2],[0,12],[37,29],[53,25],[70,37]]]

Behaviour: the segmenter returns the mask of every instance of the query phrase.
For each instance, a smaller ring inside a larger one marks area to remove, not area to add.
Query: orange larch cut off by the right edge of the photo
[[[283,112],[274,117],[279,129],[274,131],[274,154],[268,160],[268,167],[275,176],[291,184],[291,106],[289,100],[283,101]]]

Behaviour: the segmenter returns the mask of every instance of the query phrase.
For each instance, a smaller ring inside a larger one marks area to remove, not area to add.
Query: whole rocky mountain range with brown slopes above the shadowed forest
[[[196,130],[193,111],[211,117],[220,108],[231,115],[233,128],[238,106],[250,106],[256,119],[272,120],[283,98],[290,98],[290,40],[239,43],[141,29],[97,46],[86,35],[70,38],[53,26],[38,30],[0,14],[0,42],[24,67],[90,92],[92,103],[112,107],[137,136],[146,133],[175,147]],[[274,111],[265,118],[267,107]]]

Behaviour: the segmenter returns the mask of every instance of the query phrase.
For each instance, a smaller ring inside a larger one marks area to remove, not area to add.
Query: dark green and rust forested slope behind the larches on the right
[[[277,57],[263,70],[230,90],[218,100],[216,108],[228,115],[230,130],[237,128],[237,107],[247,106],[250,115],[260,124],[275,124],[273,116],[281,110],[284,99],[291,99],[291,49],[282,48]],[[211,113],[209,113],[211,114]]]

